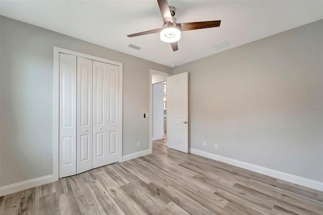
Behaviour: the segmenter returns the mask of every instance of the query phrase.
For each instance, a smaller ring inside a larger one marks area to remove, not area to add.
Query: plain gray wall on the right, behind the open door
[[[185,71],[190,147],[323,182],[323,20],[173,68]]]

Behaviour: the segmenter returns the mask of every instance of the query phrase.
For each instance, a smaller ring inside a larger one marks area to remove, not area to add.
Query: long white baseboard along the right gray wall
[[[249,164],[246,162],[241,162],[240,160],[232,159],[229,157],[224,157],[224,156],[221,156],[218,154],[212,154],[212,153],[209,153],[206,151],[201,151],[201,150],[194,149],[194,148],[190,148],[190,152],[192,154],[197,154],[197,155],[207,157],[207,158],[210,158],[213,160],[218,160],[219,162],[230,164],[230,165],[240,167],[240,168],[243,168],[246,170],[251,170],[256,173],[261,173],[263,175],[271,176],[271,177],[278,178],[278,179],[281,179],[284,181],[288,181],[288,182],[291,182],[294,184],[302,185],[304,187],[309,187],[309,188],[312,188],[315,190],[323,191],[323,182],[314,181],[311,179],[295,176],[295,175],[288,174],[288,173],[283,173],[283,172],[268,169],[265,167],[260,167],[257,165]]]

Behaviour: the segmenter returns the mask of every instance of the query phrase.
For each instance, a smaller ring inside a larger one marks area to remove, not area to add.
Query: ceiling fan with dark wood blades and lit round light
[[[206,22],[188,22],[176,23],[175,12],[176,8],[168,6],[167,0],[157,0],[161,16],[164,20],[163,28],[157,28],[150,31],[144,31],[136,34],[127,35],[128,37],[141,36],[146,34],[160,32],[160,39],[164,42],[169,42],[172,45],[173,51],[178,50],[177,41],[181,38],[181,31],[197,30],[203,28],[219,27],[221,20],[206,21]]]

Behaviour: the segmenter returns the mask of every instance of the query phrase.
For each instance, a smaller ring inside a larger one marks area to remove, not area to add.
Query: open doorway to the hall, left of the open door
[[[166,139],[167,135],[167,77],[169,73],[150,70],[149,150],[152,141]]]

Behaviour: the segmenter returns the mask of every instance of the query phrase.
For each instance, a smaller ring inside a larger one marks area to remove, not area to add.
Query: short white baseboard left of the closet
[[[37,187],[50,182],[52,182],[52,175],[30,179],[30,180],[18,182],[15,184],[10,184],[7,186],[0,187],[0,196],[26,190],[32,187]]]

